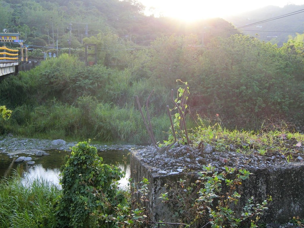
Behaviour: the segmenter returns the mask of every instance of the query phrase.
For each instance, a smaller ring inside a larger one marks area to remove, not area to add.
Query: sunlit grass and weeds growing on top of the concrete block
[[[203,142],[214,146],[216,151],[235,151],[261,156],[279,153],[286,159],[302,153],[304,135],[291,132],[285,122],[262,126],[258,131],[228,130],[223,127],[218,116],[215,116],[213,121],[203,120],[198,116],[198,124],[194,133],[190,134],[194,146]]]

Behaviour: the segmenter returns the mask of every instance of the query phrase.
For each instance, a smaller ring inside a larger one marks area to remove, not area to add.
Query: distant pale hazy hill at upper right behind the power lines
[[[277,16],[286,15],[302,9],[304,9],[304,5],[285,5],[284,7],[270,5],[253,11],[245,12],[237,16],[226,17],[225,19],[233,23],[236,27],[240,27]],[[288,35],[294,37],[296,32],[303,33],[303,22],[304,13],[300,12],[292,16],[286,16],[269,22],[248,26],[244,28],[242,32],[251,36],[258,34],[257,38],[260,40],[270,41],[272,44],[277,43],[278,45],[282,45],[288,41]]]

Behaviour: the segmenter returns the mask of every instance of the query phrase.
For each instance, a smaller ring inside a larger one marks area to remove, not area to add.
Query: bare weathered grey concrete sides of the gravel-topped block
[[[150,182],[149,202],[145,205],[150,213],[152,221],[164,220],[166,222],[178,222],[173,218],[173,211],[168,205],[158,199],[161,193],[167,192],[164,184],[176,182],[180,175],[164,175],[151,172],[150,166],[141,161],[141,157],[132,153],[131,177],[138,184],[143,177]],[[249,170],[249,169],[248,169]],[[268,204],[268,211],[261,218],[264,222],[278,221],[286,223],[293,216],[304,218],[304,164],[289,163],[286,167],[271,167],[268,169],[249,170],[250,179],[243,181],[240,199],[240,210],[250,196],[254,196],[255,203],[261,203],[271,195],[273,201]]]

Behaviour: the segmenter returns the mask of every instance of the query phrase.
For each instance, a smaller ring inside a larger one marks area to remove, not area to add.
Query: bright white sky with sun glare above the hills
[[[187,21],[225,17],[258,9],[267,5],[283,7],[287,4],[303,5],[300,0],[139,0],[147,7],[146,14],[168,16]],[[149,11],[149,8],[154,9]]]

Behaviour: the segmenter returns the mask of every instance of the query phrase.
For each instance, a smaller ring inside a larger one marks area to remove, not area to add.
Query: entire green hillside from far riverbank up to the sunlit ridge
[[[173,108],[171,89],[182,82],[190,88],[189,127],[197,114],[219,114],[231,129],[256,129],[272,115],[302,120],[299,34],[278,47],[240,34],[223,19],[187,25],[145,16],[134,1],[0,3],[1,26],[19,31],[36,49],[32,56],[55,51],[57,39],[63,48],[58,58],[0,81],[0,104],[13,110],[8,121],[0,121],[0,133],[147,143],[134,101],[138,95],[145,106],[154,89],[152,124],[164,140],[170,126],[166,105]],[[87,44],[97,47],[97,65],[85,66]]]

